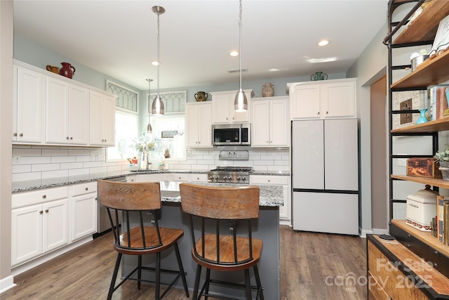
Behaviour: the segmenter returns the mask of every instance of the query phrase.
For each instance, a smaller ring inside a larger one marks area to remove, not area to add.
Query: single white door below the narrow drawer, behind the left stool
[[[97,193],[72,198],[72,241],[97,232]]]

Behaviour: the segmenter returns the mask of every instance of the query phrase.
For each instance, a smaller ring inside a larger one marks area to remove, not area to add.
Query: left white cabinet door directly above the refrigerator
[[[320,119],[320,85],[300,85],[290,95],[291,119]]]

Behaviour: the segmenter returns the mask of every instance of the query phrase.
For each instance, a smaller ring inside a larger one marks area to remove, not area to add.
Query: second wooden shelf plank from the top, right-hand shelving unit
[[[439,56],[434,55],[424,60],[424,63],[419,65],[415,71],[391,84],[391,89],[431,86],[449,80],[449,72],[447,71],[449,63],[448,49]]]

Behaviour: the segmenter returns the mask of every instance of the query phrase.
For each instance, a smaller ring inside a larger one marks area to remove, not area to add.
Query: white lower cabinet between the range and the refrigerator
[[[290,176],[250,175],[252,185],[281,185],[283,192],[283,206],[279,207],[281,224],[290,225]]]

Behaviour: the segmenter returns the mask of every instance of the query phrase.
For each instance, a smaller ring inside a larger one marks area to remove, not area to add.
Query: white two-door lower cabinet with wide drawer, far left
[[[12,198],[11,266],[69,242],[67,188],[17,193]]]

